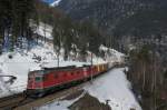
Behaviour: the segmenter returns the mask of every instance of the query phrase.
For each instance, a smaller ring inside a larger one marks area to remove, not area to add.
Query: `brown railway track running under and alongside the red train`
[[[68,96],[72,92],[80,90],[86,83],[78,84],[68,89],[56,91],[55,93],[48,94],[43,98],[26,98],[23,93],[6,97],[0,99],[0,110],[31,110],[32,108],[40,107],[56,99]]]

